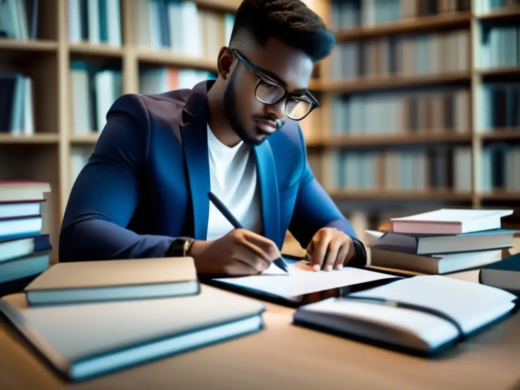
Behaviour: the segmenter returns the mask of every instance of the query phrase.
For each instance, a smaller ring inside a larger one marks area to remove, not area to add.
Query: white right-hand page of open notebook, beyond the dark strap
[[[465,333],[484,326],[514,307],[516,296],[483,284],[444,276],[415,276],[352,294],[378,297],[443,311]]]

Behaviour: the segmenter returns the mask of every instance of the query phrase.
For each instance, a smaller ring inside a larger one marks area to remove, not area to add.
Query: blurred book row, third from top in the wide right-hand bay
[[[421,92],[334,94],[333,135],[469,133],[471,93],[467,88]]]

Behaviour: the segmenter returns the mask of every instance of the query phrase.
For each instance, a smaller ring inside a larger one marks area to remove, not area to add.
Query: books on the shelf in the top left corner
[[[39,6],[39,0],[0,2],[0,38],[36,38]]]

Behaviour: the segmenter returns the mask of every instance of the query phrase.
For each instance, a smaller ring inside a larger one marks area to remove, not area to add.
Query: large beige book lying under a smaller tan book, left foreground
[[[82,381],[262,330],[265,306],[204,286],[198,295],[28,306],[25,294],[0,311],[51,367]]]

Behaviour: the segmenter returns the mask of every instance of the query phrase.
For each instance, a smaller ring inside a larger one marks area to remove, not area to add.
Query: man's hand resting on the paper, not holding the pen
[[[307,246],[314,271],[342,269],[355,255],[352,238],[335,228],[321,228]]]

